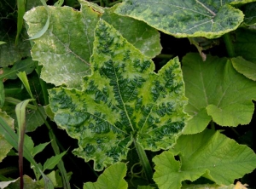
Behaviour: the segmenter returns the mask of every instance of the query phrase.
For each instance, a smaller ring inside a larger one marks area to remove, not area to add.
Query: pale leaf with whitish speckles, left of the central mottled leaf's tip
[[[49,30],[34,40],[32,58],[44,66],[41,72],[44,81],[79,88],[82,77],[90,74],[89,60],[98,14],[88,7],[80,11],[70,7],[48,9]],[[29,35],[33,36],[44,27],[47,11],[37,7],[26,12],[24,19]]]

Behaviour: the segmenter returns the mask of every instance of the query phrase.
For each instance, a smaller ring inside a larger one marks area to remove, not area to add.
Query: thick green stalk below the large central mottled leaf
[[[150,166],[150,163],[148,161],[148,157],[146,155],[146,152],[143,150],[143,147],[137,143],[137,140],[133,138],[134,145],[137,150],[138,157],[140,158],[141,163],[143,164],[143,169],[145,171],[145,175],[147,177],[147,180],[149,183],[153,183],[153,172]]]

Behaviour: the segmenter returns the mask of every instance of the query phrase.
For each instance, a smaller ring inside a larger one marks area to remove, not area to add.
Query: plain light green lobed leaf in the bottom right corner
[[[153,179],[160,189],[180,188],[183,180],[201,176],[218,185],[230,185],[256,168],[253,150],[212,130],[180,136],[174,148],[155,156],[153,162]]]

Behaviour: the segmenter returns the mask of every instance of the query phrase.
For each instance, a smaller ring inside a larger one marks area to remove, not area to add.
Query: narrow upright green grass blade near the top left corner
[[[15,44],[19,42],[20,31],[23,27],[23,16],[26,11],[26,0],[17,0],[18,18],[17,18],[17,34]]]

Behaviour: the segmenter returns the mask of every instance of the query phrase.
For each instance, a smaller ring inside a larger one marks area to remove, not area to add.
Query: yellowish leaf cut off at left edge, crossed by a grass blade
[[[0,110],[0,117],[3,118],[3,120],[9,125],[10,128],[14,129],[14,119],[9,117],[6,112],[2,112]],[[0,125],[0,127],[2,126]],[[0,162],[2,162],[3,158],[5,158],[10,149],[12,149],[12,146],[7,140],[5,140],[2,132],[0,132],[0,149]]]

